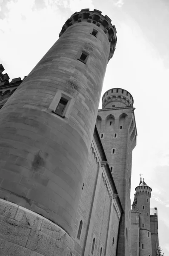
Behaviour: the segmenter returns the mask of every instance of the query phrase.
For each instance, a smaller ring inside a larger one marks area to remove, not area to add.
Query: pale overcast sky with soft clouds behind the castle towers
[[[10,78],[28,75],[81,9],[99,9],[117,29],[103,92],[113,87],[134,98],[137,146],[132,189],[142,173],[158,208],[159,241],[169,255],[169,0],[0,0],[0,63]],[[101,108],[101,104],[100,104]]]

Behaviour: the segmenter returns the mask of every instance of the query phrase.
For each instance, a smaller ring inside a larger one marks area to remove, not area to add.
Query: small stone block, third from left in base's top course
[[[57,227],[57,225],[54,225],[53,223],[43,220],[42,225],[40,227],[40,231],[43,233],[46,233],[49,236],[52,236],[53,238],[60,238],[60,228]],[[64,232],[65,233],[65,232]]]

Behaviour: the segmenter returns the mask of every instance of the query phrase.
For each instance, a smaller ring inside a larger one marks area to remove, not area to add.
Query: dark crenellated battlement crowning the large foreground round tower
[[[114,25],[111,24],[111,19],[105,15],[103,16],[99,10],[94,9],[90,11],[89,9],[82,9],[80,12],[75,12],[68,20],[66,20],[65,24],[62,27],[62,30],[59,34],[59,37],[63,35],[66,29],[69,26],[72,26],[74,23],[79,22],[88,22],[93,23],[97,27],[103,29],[104,33],[106,34],[109,42],[110,42],[110,53],[109,53],[109,60],[112,58],[115,52],[115,46],[117,43],[116,37],[116,28]]]

